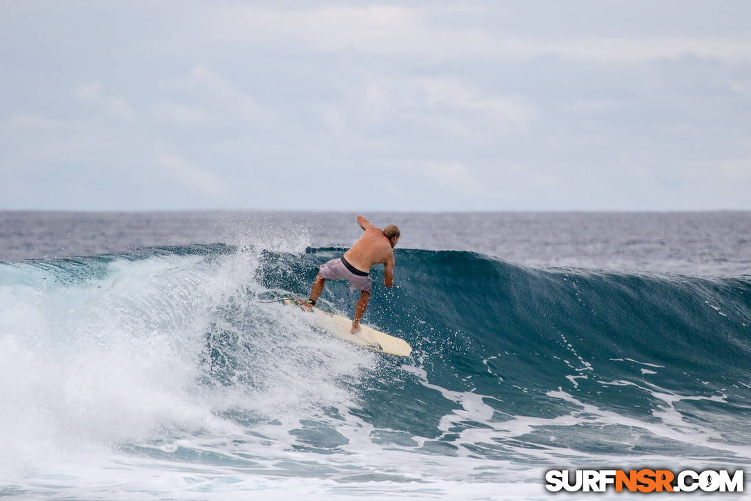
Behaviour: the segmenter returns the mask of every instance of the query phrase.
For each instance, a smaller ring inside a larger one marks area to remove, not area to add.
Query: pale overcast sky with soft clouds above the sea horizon
[[[751,209],[751,2],[0,0],[0,209]]]

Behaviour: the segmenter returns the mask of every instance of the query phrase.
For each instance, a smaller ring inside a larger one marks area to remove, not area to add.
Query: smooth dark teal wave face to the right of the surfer
[[[294,257],[289,276],[312,279],[315,263],[339,251]],[[671,454],[685,457],[729,460],[747,441],[748,278],[541,271],[456,251],[397,250],[397,263],[399,286],[375,289],[366,321],[408,339],[430,384],[417,375],[396,386],[392,375],[385,384],[366,383],[363,413],[376,426],[511,460],[525,457],[524,448],[569,444],[591,453],[657,454],[664,447],[659,427],[701,430],[704,441],[668,433]],[[275,266],[261,276],[273,281]],[[303,294],[306,281],[279,285]],[[344,284],[323,297],[337,311],[352,308]],[[481,395],[493,424],[514,417],[551,423],[523,438],[463,444],[458,433],[487,422],[458,420],[440,432],[447,412],[461,410],[445,392]],[[602,419],[553,424],[578,406]]]

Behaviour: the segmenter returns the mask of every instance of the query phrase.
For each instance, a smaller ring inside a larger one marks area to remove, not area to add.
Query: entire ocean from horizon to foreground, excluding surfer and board
[[[363,321],[409,358],[274,302],[355,215],[0,212],[0,496],[591,499],[544,472],[608,467],[749,489],[751,213],[363,214],[402,229]]]

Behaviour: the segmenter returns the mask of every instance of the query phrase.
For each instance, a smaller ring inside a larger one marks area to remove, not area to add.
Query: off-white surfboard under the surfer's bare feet
[[[288,297],[284,298],[284,302],[286,305],[298,305],[295,299]],[[399,355],[400,357],[409,357],[409,354],[412,353],[412,347],[404,339],[389,336],[362,323],[360,323],[360,332],[351,334],[349,329],[351,329],[352,320],[342,317],[342,315],[321,311],[318,308],[312,308],[310,311],[313,314],[313,325],[344,339],[346,342],[379,353]]]

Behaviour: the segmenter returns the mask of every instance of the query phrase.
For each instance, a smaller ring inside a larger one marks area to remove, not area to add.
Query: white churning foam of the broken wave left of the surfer
[[[246,304],[261,292],[249,279],[256,257],[117,260],[101,280],[72,285],[29,267],[50,286],[0,287],[0,481],[83,465],[123,444],[182,437],[160,445],[170,451],[198,448],[193,436],[246,439],[222,417],[237,408],[284,421],[267,431],[283,430],[288,447],[288,430],[310,409],[351,403],[342,379],[357,378],[374,356],[312,330],[293,308]],[[240,367],[254,372],[254,387],[200,383],[217,305],[255,308],[262,329],[234,331],[254,350],[252,365]]]

